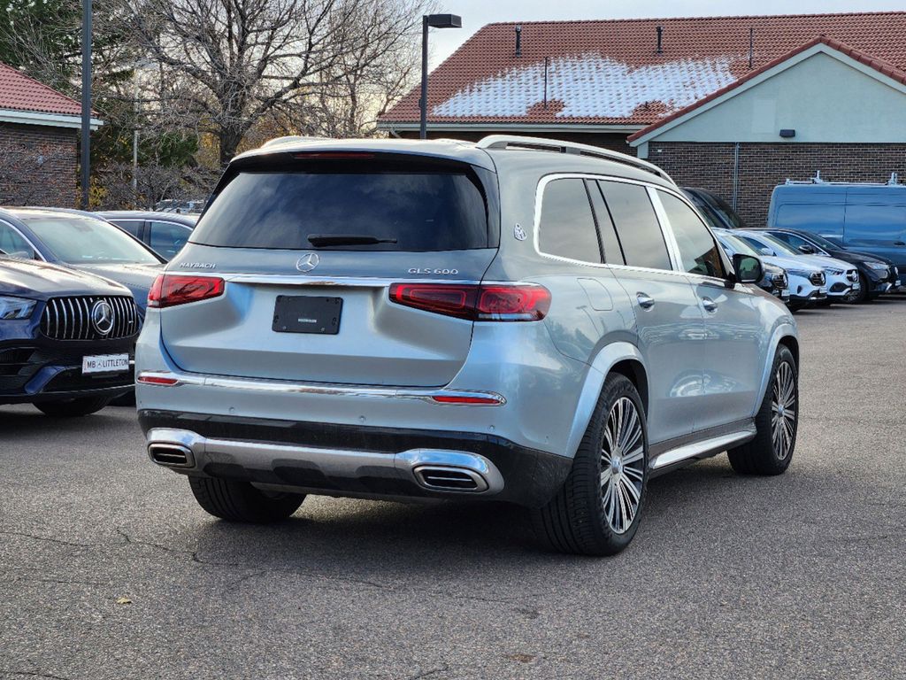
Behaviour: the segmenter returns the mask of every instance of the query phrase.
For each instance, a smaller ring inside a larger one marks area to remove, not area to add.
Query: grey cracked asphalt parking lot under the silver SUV
[[[228,525],[130,409],[0,406],[0,678],[906,677],[906,296],[798,318],[787,474],[653,481],[613,559],[501,505]]]

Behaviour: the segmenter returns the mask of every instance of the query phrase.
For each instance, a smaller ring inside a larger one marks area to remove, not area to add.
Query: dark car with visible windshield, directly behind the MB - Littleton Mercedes
[[[130,289],[142,316],[164,262],[138,238],[81,210],[0,209],[0,249],[110,278]]]

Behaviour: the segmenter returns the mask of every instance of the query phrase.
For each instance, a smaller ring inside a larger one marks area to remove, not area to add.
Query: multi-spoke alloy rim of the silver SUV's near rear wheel
[[[607,416],[601,448],[604,517],[618,534],[630,529],[639,512],[645,479],[644,446],[635,403],[628,397],[620,397]]]

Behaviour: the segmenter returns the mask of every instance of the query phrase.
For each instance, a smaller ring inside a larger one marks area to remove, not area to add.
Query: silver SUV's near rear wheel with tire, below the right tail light
[[[630,453],[612,455],[621,450]],[[647,484],[648,428],[641,398],[628,378],[608,375],[563,487],[533,510],[535,533],[560,552],[615,555],[639,529]]]

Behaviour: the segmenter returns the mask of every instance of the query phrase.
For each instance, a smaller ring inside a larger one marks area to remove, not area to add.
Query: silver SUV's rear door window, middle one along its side
[[[599,184],[620,237],[626,264],[672,269],[648,190],[638,184],[623,182],[602,181]]]

